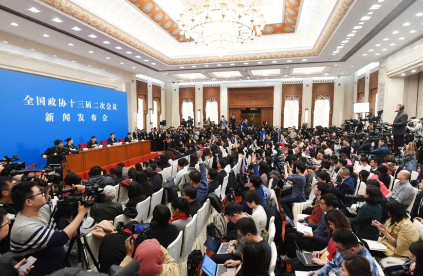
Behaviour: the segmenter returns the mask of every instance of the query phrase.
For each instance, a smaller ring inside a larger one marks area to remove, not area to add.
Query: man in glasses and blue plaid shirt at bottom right
[[[370,252],[358,241],[357,236],[346,228],[340,228],[332,234],[336,255],[319,270],[310,271],[307,276],[339,275],[344,256],[359,255],[368,260],[372,275],[379,275],[378,268]]]

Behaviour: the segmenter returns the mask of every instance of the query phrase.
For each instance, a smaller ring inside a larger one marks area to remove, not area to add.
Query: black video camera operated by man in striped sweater
[[[78,209],[78,202],[85,207],[92,207],[94,203],[103,203],[105,201],[105,193],[103,188],[98,185],[85,186],[85,192],[76,194],[76,188],[63,189],[62,193],[69,194],[62,197],[57,201],[57,208],[74,213]],[[85,200],[86,197],[92,200]]]

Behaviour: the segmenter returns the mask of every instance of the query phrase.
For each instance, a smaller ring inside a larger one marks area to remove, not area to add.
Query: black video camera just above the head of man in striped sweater
[[[54,173],[52,173],[54,172]],[[44,167],[42,170],[12,170],[10,172],[11,176],[15,176],[18,174],[23,174],[21,181],[34,181],[38,182],[38,185],[41,187],[47,186],[48,183],[59,184],[62,180],[60,173],[62,172],[62,165],[61,164],[50,164],[50,166]],[[30,173],[34,173],[34,175],[29,175]],[[41,173],[41,174],[38,174]],[[52,174],[47,174],[52,173]],[[47,178],[47,181],[42,180],[42,176]]]

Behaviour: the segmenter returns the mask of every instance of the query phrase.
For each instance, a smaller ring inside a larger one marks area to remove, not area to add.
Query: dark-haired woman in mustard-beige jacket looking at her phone
[[[373,251],[370,253],[374,257],[386,258],[408,258],[410,251],[408,246],[412,242],[420,239],[420,234],[408,218],[405,207],[396,200],[386,203],[386,212],[389,219],[385,224],[373,221],[372,225],[381,233],[382,242],[385,244],[386,251]]]

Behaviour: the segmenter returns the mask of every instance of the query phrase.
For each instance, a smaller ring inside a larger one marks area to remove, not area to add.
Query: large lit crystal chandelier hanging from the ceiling
[[[191,8],[180,15],[179,33],[186,40],[205,43],[214,48],[218,56],[235,43],[244,43],[260,36],[264,29],[264,16],[253,6],[233,4],[232,0],[207,0],[202,8]]]

